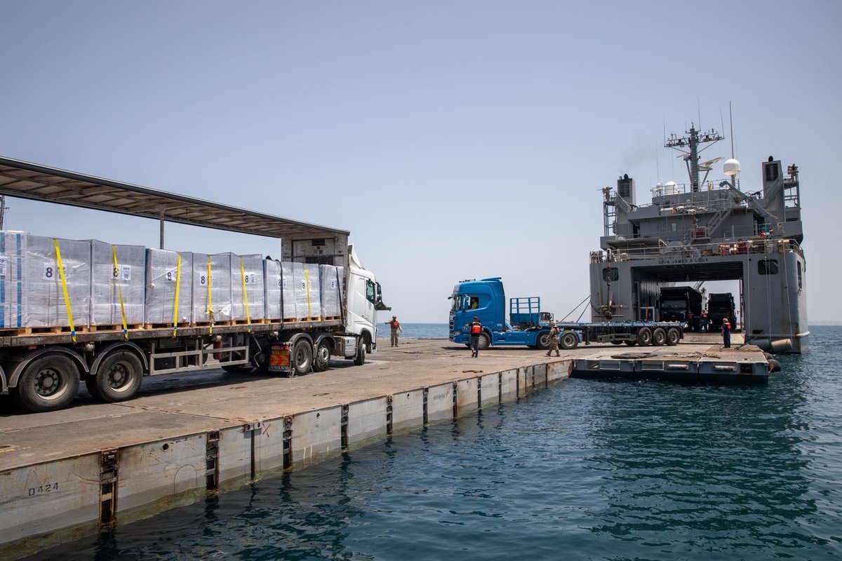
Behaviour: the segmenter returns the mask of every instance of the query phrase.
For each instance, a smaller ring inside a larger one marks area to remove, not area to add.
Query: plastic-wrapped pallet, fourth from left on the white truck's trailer
[[[193,305],[191,278],[193,253],[190,251],[147,249],[147,325],[173,325],[176,318],[179,325],[189,325]]]

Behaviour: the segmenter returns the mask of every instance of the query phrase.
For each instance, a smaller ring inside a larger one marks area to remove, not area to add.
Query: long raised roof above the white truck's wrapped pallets
[[[314,239],[349,236],[346,230],[237,209],[200,198],[166,193],[3,156],[0,156],[0,194],[255,236],[296,236]]]

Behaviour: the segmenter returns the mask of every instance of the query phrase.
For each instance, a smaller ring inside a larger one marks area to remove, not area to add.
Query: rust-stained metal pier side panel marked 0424
[[[99,452],[0,473],[0,543],[99,520]]]

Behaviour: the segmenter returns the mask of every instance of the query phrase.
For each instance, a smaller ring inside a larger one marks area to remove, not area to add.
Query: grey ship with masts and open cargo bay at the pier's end
[[[807,265],[798,168],[772,156],[761,164],[762,185],[746,191],[739,162],[724,162],[724,179],[709,179],[722,158],[700,161],[716,130],[690,126],[665,147],[680,151],[689,183],[652,189],[637,204],[624,175],[603,189],[605,235],[590,254],[591,313],[600,320],[660,320],[661,288],[676,283],[738,281],[734,294],[745,341],[772,352],[807,352]],[[718,330],[718,325],[711,325]]]

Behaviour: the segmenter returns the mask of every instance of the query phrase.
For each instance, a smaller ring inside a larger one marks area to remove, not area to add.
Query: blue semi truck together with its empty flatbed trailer
[[[465,280],[456,283],[450,294],[450,341],[469,344],[468,325],[474,316],[482,323],[479,347],[525,345],[531,348],[550,347],[550,322],[553,315],[541,311],[541,298],[509,299],[506,319],[506,296],[500,277]],[[613,343],[615,345],[676,345],[684,338],[684,325],[669,321],[557,322],[561,329],[559,347],[573,349],[580,342]]]

